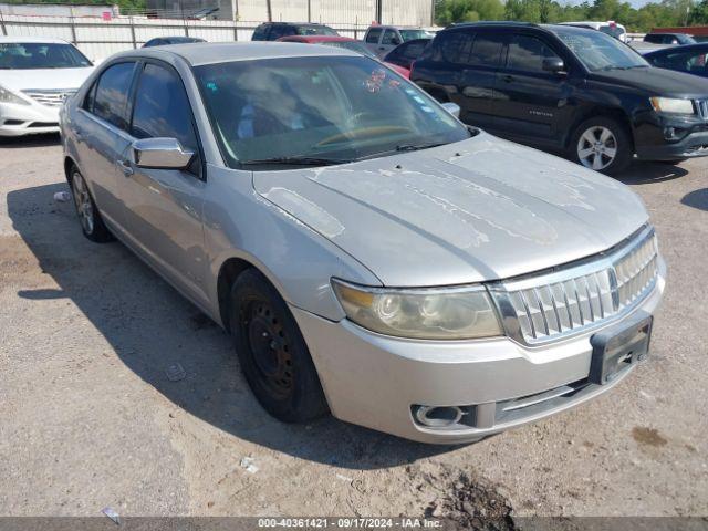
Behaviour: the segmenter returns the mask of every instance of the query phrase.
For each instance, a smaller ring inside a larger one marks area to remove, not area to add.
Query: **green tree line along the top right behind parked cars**
[[[662,0],[634,8],[620,0],[587,0],[580,4],[555,0],[436,0],[439,25],[478,20],[517,20],[535,23],[614,20],[629,32],[652,28],[708,24],[708,0]]]

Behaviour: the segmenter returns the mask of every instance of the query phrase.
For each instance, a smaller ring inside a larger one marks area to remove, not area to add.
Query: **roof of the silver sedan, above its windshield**
[[[256,42],[196,42],[187,44],[169,44],[166,46],[140,48],[117,53],[119,58],[155,58],[165,59],[165,54],[179,56],[192,66],[232,61],[251,61],[259,59],[308,58],[323,55],[348,55],[361,58],[360,53],[344,48],[303,46],[300,42],[256,41]]]

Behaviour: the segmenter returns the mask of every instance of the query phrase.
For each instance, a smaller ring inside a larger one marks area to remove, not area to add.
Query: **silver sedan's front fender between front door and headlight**
[[[220,322],[218,277],[230,258],[257,267],[291,305],[331,321],[344,319],[332,277],[381,285],[354,258],[259,196],[251,171],[209,165],[207,175],[204,223],[215,320]]]

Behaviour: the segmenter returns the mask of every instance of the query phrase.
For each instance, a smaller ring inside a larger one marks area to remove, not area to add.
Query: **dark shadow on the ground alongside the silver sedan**
[[[27,145],[25,143],[23,145]],[[413,462],[450,447],[420,445],[323,418],[308,426],[266,414],[241,377],[229,336],[121,243],[81,233],[71,202],[55,204],[55,184],[11,191],[8,212],[41,272],[58,289],[20,289],[29,300],[65,298],[103,334],[122,362],[189,414],[239,438],[317,462],[374,469]],[[31,257],[30,257],[31,258]],[[19,277],[24,283],[25,277]],[[58,322],[58,326],[66,323]],[[98,352],[95,355],[112,355]],[[165,371],[180,364],[186,378]],[[365,392],[366,383],[362,382]]]

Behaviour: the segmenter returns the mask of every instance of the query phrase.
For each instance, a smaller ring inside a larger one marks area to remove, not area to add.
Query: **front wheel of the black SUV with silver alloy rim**
[[[569,146],[571,159],[606,175],[625,169],[634,156],[634,145],[626,127],[606,116],[580,124]]]

